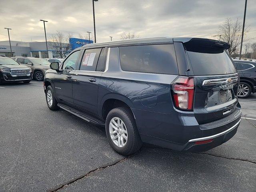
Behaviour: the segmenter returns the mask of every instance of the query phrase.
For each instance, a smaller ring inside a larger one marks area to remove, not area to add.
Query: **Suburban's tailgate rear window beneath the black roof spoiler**
[[[187,44],[185,47],[194,75],[236,73],[236,68],[223,48],[207,44]]]

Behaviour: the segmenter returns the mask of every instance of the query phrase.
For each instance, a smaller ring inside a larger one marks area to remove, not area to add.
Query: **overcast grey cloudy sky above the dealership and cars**
[[[95,2],[97,42],[135,32],[141,38],[193,36],[210,38],[225,18],[242,23],[244,0],[99,0]],[[0,0],[0,41],[44,41],[56,30],[74,37],[93,32],[92,0]],[[256,2],[248,0],[246,25],[256,37]],[[256,41],[256,39],[254,39]]]

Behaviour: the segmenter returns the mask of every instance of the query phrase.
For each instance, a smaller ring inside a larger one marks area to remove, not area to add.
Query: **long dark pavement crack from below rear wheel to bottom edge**
[[[137,152],[137,153],[138,153],[138,152]],[[137,154],[137,153],[136,153],[136,154]],[[128,158],[130,158],[130,157],[132,157],[132,156],[134,156],[134,155],[135,155],[135,154],[132,154],[132,155],[130,155],[130,156],[126,157],[126,158],[123,158],[123,159],[121,159],[121,160],[119,160],[119,161],[117,161],[117,162],[114,162],[114,163],[112,163],[112,164],[109,164],[109,165],[102,166],[102,167],[96,168],[96,169],[94,169],[94,170],[91,170],[91,171],[89,171],[88,173],[86,173],[86,174],[84,174],[84,175],[82,175],[82,176],[80,176],[80,177],[78,177],[78,178],[74,178],[74,179],[72,179],[72,180],[66,182],[65,184],[58,185],[56,189],[47,190],[47,192],[56,192],[56,191],[58,191],[58,190],[60,190],[60,189],[62,189],[62,188],[64,188],[64,187],[66,187],[66,186],[68,186],[68,185],[70,185],[70,184],[72,184],[72,183],[74,183],[74,182],[76,182],[76,181],[78,181],[78,180],[81,180],[81,179],[83,179],[83,178],[86,178],[88,175],[90,175],[90,174],[92,174],[92,173],[94,173],[94,172],[96,172],[96,171],[99,171],[99,170],[102,170],[102,169],[105,169],[105,168],[114,166],[114,165],[116,165],[116,164],[118,164],[118,163],[120,163],[120,162],[125,161],[126,159],[128,159]]]

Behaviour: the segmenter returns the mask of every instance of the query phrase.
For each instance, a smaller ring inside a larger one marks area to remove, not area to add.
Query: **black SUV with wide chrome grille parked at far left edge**
[[[32,80],[32,71],[24,65],[8,57],[0,57],[0,84],[7,82],[29,83]]]

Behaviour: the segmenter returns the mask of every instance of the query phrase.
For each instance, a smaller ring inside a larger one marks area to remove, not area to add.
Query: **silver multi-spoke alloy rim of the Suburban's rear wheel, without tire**
[[[128,132],[124,122],[118,118],[114,117],[109,123],[109,134],[112,142],[118,147],[124,147],[127,143]]]

